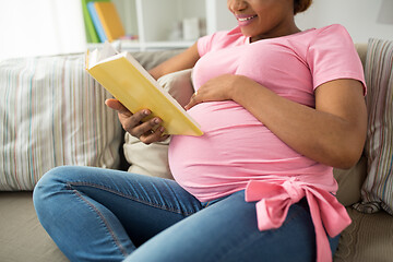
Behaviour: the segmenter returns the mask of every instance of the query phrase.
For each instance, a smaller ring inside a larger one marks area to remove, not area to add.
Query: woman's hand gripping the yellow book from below
[[[154,142],[162,142],[168,138],[168,135],[163,135],[165,129],[159,126],[162,119],[152,118],[148,121],[142,122],[143,118],[152,114],[148,109],[132,114],[117,99],[107,99],[105,104],[109,108],[118,111],[122,128],[131,135],[138,138],[141,142],[151,144]],[[157,126],[159,127],[157,128]]]

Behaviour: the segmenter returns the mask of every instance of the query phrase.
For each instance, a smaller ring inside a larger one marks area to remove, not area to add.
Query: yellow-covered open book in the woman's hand
[[[144,121],[159,117],[168,134],[202,135],[199,124],[179,103],[127,51],[105,43],[86,53],[86,70],[131,112],[150,109]]]

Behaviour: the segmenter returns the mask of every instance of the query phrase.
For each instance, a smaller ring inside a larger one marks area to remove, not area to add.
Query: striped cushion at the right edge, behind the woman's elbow
[[[383,209],[393,215],[393,41],[369,40],[365,73],[368,175],[361,192],[362,203],[355,207],[366,213]]]

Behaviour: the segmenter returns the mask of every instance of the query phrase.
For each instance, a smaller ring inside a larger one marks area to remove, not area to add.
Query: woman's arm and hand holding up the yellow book
[[[150,70],[150,73],[153,78],[158,79],[164,74],[192,68],[199,58],[198,47],[196,44],[194,44],[186,51],[153,68]],[[155,129],[154,132],[152,131],[160,124],[162,120],[159,118],[153,118],[150,121],[141,123],[141,120],[151,114],[148,108],[132,114],[117,99],[107,99],[105,104],[118,111],[119,120],[123,129],[131,135],[139,138],[143,143],[150,144],[167,139],[167,135],[163,135],[165,131],[163,127]]]

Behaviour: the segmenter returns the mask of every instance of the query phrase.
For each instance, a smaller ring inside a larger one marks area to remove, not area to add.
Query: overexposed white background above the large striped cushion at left
[[[80,0],[0,0],[0,60],[84,50]]]

